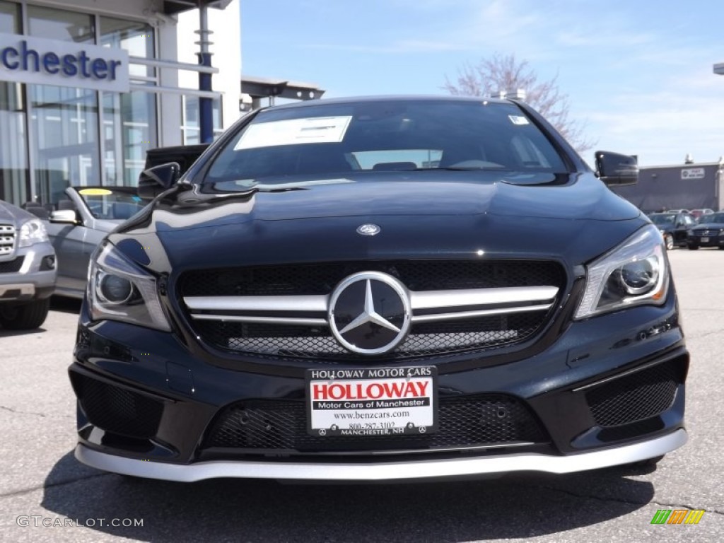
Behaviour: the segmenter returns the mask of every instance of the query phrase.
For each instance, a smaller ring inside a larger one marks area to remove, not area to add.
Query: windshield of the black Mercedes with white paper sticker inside
[[[546,136],[514,104],[320,102],[260,111],[216,156],[204,183],[240,190],[293,177],[430,169],[568,171]]]

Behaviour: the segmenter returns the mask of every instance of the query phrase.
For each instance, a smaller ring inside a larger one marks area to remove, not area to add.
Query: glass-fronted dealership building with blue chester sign
[[[0,0],[0,199],[135,185],[148,149],[238,119],[239,2]]]

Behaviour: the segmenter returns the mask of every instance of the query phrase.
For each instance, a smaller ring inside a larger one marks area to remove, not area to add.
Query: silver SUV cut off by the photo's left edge
[[[0,325],[37,328],[48,316],[57,275],[43,221],[0,201]]]

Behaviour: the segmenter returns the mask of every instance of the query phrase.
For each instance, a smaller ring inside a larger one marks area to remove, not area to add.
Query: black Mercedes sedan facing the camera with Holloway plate
[[[660,230],[526,104],[253,111],[90,261],[76,457],[132,476],[568,473],[686,442]]]

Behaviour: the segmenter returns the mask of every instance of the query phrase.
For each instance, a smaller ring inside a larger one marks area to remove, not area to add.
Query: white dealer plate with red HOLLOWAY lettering
[[[437,430],[437,368],[306,371],[313,436],[429,434]]]

